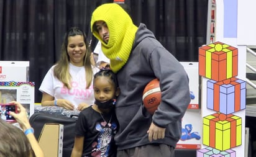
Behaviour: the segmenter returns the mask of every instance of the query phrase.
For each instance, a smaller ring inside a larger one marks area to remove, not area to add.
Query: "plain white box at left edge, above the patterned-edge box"
[[[0,81],[29,81],[29,61],[0,61]]]

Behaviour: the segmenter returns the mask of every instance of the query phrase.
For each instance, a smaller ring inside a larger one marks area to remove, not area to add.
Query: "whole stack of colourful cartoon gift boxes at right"
[[[235,156],[232,148],[242,145],[242,118],[235,112],[245,109],[246,83],[238,73],[238,49],[221,42],[199,48],[199,75],[207,81],[207,109],[203,117],[203,145],[197,157]]]

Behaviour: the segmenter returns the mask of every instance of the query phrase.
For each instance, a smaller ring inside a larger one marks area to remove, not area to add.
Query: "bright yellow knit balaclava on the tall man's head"
[[[109,41],[104,43],[97,30],[93,29],[96,21],[103,20],[109,29]],[[104,55],[110,60],[111,70],[117,73],[129,58],[138,27],[129,14],[119,4],[107,3],[99,6],[91,17],[91,31],[101,42]]]

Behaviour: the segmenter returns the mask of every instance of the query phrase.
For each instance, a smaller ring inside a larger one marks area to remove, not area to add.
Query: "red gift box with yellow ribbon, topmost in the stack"
[[[237,76],[238,49],[214,42],[199,48],[199,75],[215,81]]]

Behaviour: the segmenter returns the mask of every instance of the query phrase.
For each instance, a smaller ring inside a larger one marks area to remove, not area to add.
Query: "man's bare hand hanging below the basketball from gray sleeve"
[[[151,123],[149,130],[149,141],[165,138],[165,128],[157,127],[157,125]]]

